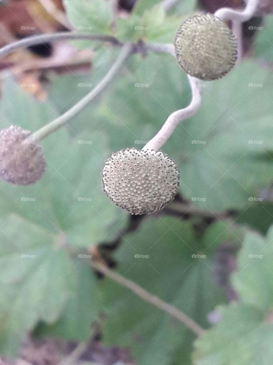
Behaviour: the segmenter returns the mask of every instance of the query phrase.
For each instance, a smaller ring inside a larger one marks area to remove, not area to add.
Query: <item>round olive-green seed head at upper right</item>
[[[202,80],[223,77],[235,65],[237,41],[213,14],[195,15],[177,31],[175,54],[182,69]]]

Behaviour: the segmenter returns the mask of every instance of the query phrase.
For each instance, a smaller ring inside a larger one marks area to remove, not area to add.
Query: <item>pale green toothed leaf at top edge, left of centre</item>
[[[66,15],[78,30],[109,34],[111,32],[111,2],[104,0],[65,0]]]

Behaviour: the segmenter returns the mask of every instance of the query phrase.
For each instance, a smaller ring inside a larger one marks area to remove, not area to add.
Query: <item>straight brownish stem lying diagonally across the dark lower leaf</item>
[[[145,301],[153,306],[161,309],[162,311],[170,314],[174,318],[178,319],[180,322],[185,324],[191,331],[200,336],[205,330],[199,326],[193,319],[188,317],[185,313],[179,311],[177,308],[172,306],[169,303],[159,299],[157,296],[152,295],[147,290],[140,287],[138,284],[134,283],[134,281],[128,280],[120,274],[110,270],[104,264],[100,262],[96,262],[94,265],[100,272],[102,272],[105,276],[115,281],[116,283],[122,285],[123,287],[130,289],[131,292],[135,293],[137,296],[141,297]]]

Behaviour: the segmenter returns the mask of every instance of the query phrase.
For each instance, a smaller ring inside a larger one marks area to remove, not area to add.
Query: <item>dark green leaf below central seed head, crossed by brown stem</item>
[[[216,284],[211,246],[220,245],[229,237],[224,232],[233,230],[218,224],[213,229],[221,236],[218,240],[214,236],[211,241],[209,232],[200,240],[190,224],[181,220],[146,220],[138,232],[124,238],[116,255],[118,271],[207,327],[207,314],[225,301]],[[232,239],[238,242],[235,235]],[[192,256],[198,254],[206,257]],[[103,338],[107,343],[134,343],[134,356],[143,365],[189,364],[194,336],[181,323],[110,280],[104,280],[102,294],[107,315]]]

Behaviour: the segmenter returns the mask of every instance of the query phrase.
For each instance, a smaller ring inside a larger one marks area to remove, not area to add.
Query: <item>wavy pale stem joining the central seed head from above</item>
[[[152,138],[143,150],[158,150],[169,139],[175,127],[183,120],[193,116],[201,105],[201,92],[199,87],[200,80],[198,78],[187,75],[191,87],[191,102],[183,109],[173,112],[164,123],[161,130]]]

